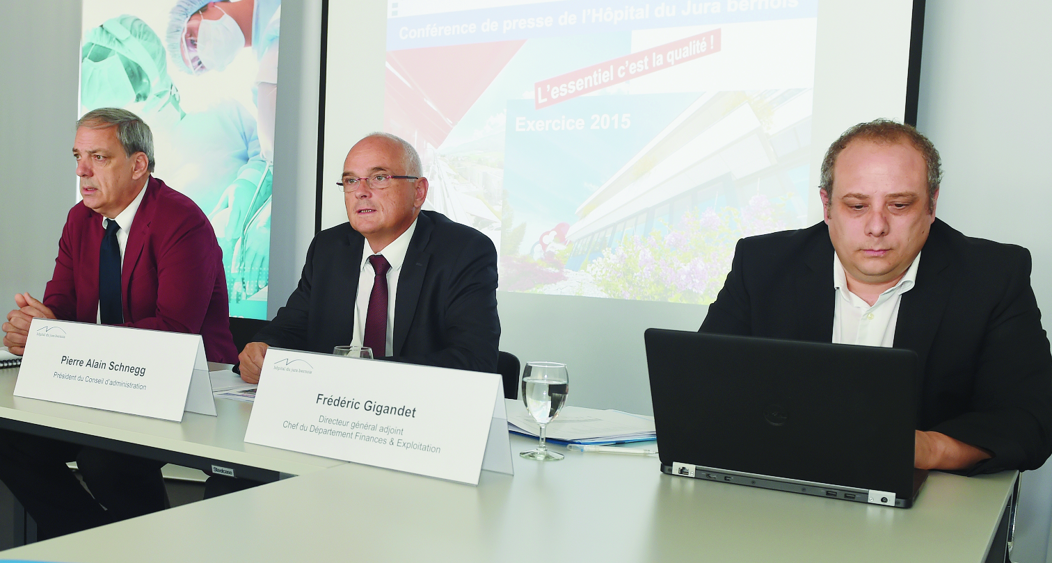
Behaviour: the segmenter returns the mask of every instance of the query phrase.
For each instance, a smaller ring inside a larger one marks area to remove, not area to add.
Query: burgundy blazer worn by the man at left
[[[121,267],[124,327],[200,334],[209,361],[237,363],[223,252],[189,197],[150,176]],[[121,226],[121,228],[125,228]],[[66,216],[43,304],[63,320],[96,322],[102,215],[83,202]]]

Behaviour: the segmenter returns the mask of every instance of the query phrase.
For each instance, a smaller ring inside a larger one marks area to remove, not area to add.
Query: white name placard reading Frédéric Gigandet
[[[499,375],[280,348],[245,441],[470,484],[512,473]]]

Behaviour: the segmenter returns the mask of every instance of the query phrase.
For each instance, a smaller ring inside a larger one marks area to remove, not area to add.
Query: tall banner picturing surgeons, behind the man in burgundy
[[[281,0],[83,0],[78,117],[128,109],[154,175],[223,250],[230,316],[265,318]]]

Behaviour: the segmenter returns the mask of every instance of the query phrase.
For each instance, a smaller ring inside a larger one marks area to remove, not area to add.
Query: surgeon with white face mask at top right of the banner
[[[223,71],[241,49],[252,49],[259,60],[255,88],[260,149],[271,162],[280,27],[281,0],[179,0],[166,33],[171,60],[191,75]]]

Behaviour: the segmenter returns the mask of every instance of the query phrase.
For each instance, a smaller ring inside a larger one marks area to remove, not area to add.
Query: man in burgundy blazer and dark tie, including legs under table
[[[123,109],[89,111],[77,122],[73,153],[83,201],[62,229],[43,301],[16,296],[4,345],[21,354],[29,322],[45,317],[198,333],[209,360],[237,361],[222,251],[197,205],[150,175],[149,127]],[[163,464],[0,432],[0,480],[36,520],[39,539],[165,508]]]

